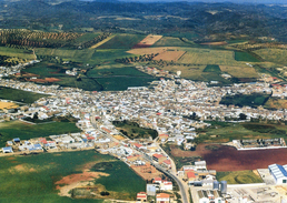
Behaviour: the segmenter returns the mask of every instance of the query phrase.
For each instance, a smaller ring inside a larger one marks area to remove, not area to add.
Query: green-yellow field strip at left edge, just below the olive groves
[[[0,55],[7,55],[7,57],[16,57],[20,59],[27,59],[27,60],[34,60],[34,55],[31,51],[28,50],[21,50],[21,49],[14,49],[14,48],[7,48],[7,47],[0,47]]]

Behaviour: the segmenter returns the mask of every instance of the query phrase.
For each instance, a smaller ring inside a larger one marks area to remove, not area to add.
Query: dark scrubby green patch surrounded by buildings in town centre
[[[113,121],[112,124],[126,136],[130,139],[156,139],[158,133],[156,130],[140,128],[138,123],[130,121]]]

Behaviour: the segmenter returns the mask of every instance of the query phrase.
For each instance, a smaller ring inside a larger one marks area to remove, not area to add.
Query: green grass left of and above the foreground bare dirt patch
[[[59,196],[55,182],[62,176],[81,172],[80,166],[89,162],[115,160],[95,151],[42,153],[28,156],[0,158],[1,203],[61,202],[91,203],[100,200],[72,200]],[[14,171],[14,166],[23,165],[24,171]],[[30,171],[30,169],[33,169]],[[119,171],[121,172],[121,171]],[[131,171],[129,171],[131,173]],[[117,179],[113,179],[117,182]]]

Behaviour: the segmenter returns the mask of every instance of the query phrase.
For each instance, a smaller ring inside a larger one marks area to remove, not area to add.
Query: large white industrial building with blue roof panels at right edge
[[[287,165],[271,164],[268,169],[276,184],[287,184]]]

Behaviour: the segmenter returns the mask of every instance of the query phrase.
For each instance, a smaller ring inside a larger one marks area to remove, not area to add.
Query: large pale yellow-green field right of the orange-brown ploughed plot
[[[191,64],[218,64],[218,65],[238,65],[240,62],[235,60],[234,51],[211,50],[200,48],[181,48],[187,53],[178,61],[180,63]]]

